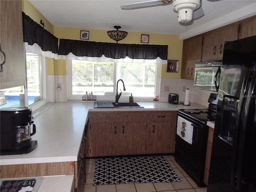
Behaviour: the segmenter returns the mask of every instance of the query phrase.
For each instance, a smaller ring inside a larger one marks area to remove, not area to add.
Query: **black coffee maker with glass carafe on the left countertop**
[[[30,136],[36,133],[31,121],[32,110],[28,107],[4,107],[0,109],[0,154],[26,154],[37,147]],[[30,127],[33,132],[30,133]]]

